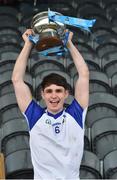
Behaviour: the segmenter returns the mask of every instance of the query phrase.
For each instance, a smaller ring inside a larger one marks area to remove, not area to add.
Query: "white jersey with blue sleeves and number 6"
[[[53,115],[31,101],[24,115],[30,128],[34,179],[79,179],[86,109],[73,102]]]

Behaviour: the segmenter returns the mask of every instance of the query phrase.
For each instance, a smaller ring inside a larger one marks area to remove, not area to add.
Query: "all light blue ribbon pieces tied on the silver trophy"
[[[93,27],[94,23],[96,22],[96,19],[87,20],[87,19],[58,15],[56,12],[50,11],[50,9],[48,9],[48,19],[50,22],[54,22],[56,24],[62,23],[65,25],[74,26],[74,27],[80,28],[81,30],[86,30],[88,32],[91,32],[90,28]],[[63,42],[62,45],[55,46],[55,47],[40,51],[38,53],[42,56],[49,56],[51,54],[55,54],[58,56],[63,55],[64,53],[68,51],[66,47],[68,37],[69,37],[69,31],[65,32],[64,39],[62,40]],[[38,43],[39,34],[30,35],[29,40],[32,41],[34,44]]]

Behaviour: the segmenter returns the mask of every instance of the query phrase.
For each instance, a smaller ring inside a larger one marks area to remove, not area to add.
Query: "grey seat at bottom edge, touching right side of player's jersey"
[[[100,161],[91,151],[84,151],[80,166],[80,179],[101,179]]]

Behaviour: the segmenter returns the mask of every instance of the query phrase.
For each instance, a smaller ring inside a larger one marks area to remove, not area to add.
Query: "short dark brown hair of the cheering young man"
[[[44,90],[46,87],[50,86],[51,84],[63,86],[65,88],[65,90],[69,89],[66,79],[59,74],[51,73],[51,74],[45,76],[41,83],[42,90]]]

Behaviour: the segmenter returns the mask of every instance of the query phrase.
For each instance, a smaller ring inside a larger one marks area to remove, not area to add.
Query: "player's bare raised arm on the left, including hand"
[[[32,100],[30,89],[24,82],[27,61],[33,46],[33,44],[28,39],[28,35],[32,33],[32,30],[28,29],[22,35],[24,46],[16,60],[12,74],[12,82],[16,94],[16,99],[18,102],[18,106],[22,112],[26,110],[27,106]]]

